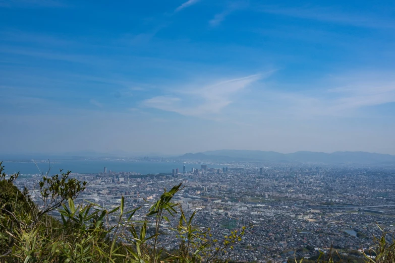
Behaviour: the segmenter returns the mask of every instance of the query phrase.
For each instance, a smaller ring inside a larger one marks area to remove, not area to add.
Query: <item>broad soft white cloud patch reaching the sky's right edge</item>
[[[364,108],[395,103],[395,80],[377,81],[362,75],[359,80],[344,78],[341,80],[342,84],[332,84],[336,88],[321,89],[314,95],[306,95],[307,91],[304,90],[269,91],[266,96],[275,101],[270,104],[272,112],[301,118],[362,117]]]

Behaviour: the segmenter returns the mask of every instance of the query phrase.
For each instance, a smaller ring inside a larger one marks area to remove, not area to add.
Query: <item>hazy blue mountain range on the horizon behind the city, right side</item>
[[[249,150],[218,150],[203,153],[188,153],[180,157],[188,160],[211,161],[263,161],[277,163],[395,163],[395,156],[368,152],[295,152],[289,154],[249,151]]]

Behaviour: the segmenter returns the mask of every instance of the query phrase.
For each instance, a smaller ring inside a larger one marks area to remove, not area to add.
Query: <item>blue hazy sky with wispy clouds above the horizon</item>
[[[0,153],[395,154],[394,14],[395,1],[0,0]]]

